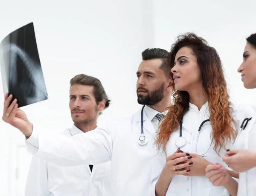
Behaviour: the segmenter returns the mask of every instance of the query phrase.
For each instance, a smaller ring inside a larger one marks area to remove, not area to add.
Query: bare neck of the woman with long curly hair
[[[189,93],[189,102],[198,107],[198,110],[201,110],[201,107],[207,102],[207,97],[203,86],[193,88]]]

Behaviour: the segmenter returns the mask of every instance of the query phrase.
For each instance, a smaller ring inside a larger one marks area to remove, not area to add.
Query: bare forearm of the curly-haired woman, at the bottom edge
[[[166,196],[166,192],[172,180],[169,169],[164,166],[155,186],[156,196]]]

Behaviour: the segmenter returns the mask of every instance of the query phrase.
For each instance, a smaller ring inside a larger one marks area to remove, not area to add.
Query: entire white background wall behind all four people
[[[245,37],[256,32],[255,7],[252,0],[0,0],[0,40],[34,22],[49,99],[23,110],[34,124],[61,132],[72,124],[70,78],[80,73],[99,78],[112,99],[102,117],[129,116],[140,109],[135,85],[141,52],[148,47],[169,50],[175,37],[188,31],[219,52],[231,98],[254,107],[256,91],[244,89],[236,69]],[[0,84],[3,103],[1,92]],[[23,189],[31,159],[23,139],[0,121],[0,196],[23,195],[15,193]]]

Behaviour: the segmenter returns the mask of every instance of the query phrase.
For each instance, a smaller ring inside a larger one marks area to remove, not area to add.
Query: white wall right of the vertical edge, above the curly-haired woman
[[[245,38],[256,33],[255,0],[153,0],[154,44],[171,48],[177,35],[194,32],[218,51],[230,97],[256,109],[256,90],[245,89],[237,72]]]

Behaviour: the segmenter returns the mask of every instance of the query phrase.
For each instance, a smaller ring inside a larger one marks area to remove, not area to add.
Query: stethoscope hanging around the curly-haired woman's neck
[[[181,119],[180,119],[180,137],[178,137],[178,138],[175,140],[175,145],[176,145],[177,147],[179,147],[179,148],[181,148],[181,147],[183,147],[183,146],[186,145],[186,138],[182,137],[182,120],[183,120],[183,117],[181,117]],[[209,148],[210,148],[211,145],[212,145],[212,142],[211,142],[211,144],[209,145],[209,147],[207,148],[207,150],[205,151],[205,153],[203,153],[203,154],[198,154],[198,153],[197,153],[197,144],[198,144],[198,138],[199,138],[199,134],[200,134],[200,132],[201,132],[201,128],[202,128],[203,125],[204,125],[206,122],[208,122],[208,121],[210,121],[210,119],[204,120],[204,121],[201,123],[201,125],[199,126],[199,129],[198,129],[198,135],[197,135],[197,138],[196,138],[196,141],[195,141],[195,154],[197,154],[197,155],[199,155],[199,156],[204,156],[204,155],[208,152]]]

